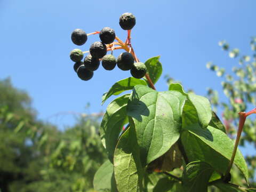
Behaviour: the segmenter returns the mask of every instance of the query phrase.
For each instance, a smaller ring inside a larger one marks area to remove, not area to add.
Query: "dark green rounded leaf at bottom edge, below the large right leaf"
[[[207,191],[208,181],[213,173],[211,165],[196,161],[187,164],[182,174],[183,190],[187,192]]]

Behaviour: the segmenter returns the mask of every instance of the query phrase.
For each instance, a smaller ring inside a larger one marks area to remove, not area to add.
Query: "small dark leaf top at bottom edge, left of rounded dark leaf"
[[[184,192],[181,183],[169,178],[160,179],[153,192]]]

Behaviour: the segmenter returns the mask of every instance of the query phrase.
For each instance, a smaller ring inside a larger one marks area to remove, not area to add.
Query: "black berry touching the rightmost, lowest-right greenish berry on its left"
[[[117,67],[121,70],[130,70],[133,63],[134,59],[129,52],[121,53],[117,58]]]

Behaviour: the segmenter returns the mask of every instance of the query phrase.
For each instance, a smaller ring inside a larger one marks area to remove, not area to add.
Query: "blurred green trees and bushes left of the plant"
[[[29,95],[0,81],[0,189],[2,192],[93,191],[107,159],[98,129],[101,114],[79,116],[60,131],[39,121]]]

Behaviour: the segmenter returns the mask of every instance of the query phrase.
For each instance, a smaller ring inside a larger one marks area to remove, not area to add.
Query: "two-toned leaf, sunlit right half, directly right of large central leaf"
[[[212,118],[211,104],[208,99],[193,93],[188,94],[182,114],[182,127],[191,124],[209,125]]]

